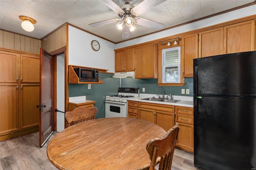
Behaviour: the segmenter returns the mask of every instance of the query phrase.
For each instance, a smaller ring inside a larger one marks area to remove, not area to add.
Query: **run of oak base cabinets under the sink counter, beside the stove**
[[[134,103],[134,101],[128,101]],[[176,148],[194,153],[194,109],[193,107],[182,107],[162,105],[155,103],[137,102],[138,106],[129,106],[128,117],[135,117],[131,110],[138,109],[138,118],[155,123],[165,131],[178,123],[180,131]],[[137,117],[136,117],[137,118]]]

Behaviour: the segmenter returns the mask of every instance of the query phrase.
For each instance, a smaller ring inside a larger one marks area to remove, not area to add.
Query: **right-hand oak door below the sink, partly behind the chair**
[[[174,113],[156,111],[156,125],[167,132],[174,126]]]

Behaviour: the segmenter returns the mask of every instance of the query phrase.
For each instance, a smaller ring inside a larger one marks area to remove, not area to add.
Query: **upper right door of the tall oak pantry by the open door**
[[[21,54],[20,81],[26,83],[39,83],[40,57]]]

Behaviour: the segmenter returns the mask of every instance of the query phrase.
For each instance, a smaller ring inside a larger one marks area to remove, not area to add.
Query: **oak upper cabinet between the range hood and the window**
[[[157,55],[155,45],[150,43],[135,48],[135,78],[157,78]]]

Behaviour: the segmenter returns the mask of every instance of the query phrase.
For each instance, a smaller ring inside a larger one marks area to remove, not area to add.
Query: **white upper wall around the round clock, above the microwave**
[[[91,48],[92,40],[100,43],[100,50]],[[115,71],[114,43],[68,26],[68,65],[79,65]]]

